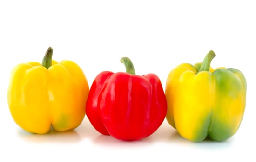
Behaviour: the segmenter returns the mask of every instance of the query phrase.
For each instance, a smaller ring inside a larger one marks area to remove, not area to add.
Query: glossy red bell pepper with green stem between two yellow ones
[[[94,128],[120,140],[141,140],[154,133],[167,111],[157,75],[135,75],[128,57],[121,58],[126,73],[103,71],[93,81],[86,115]]]

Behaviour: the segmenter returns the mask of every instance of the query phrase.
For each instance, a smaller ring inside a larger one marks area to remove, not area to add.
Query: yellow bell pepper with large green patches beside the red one
[[[210,68],[214,56],[209,51],[202,64],[177,66],[166,82],[167,121],[191,141],[207,136],[225,141],[236,133],[243,118],[246,79],[238,69]]]

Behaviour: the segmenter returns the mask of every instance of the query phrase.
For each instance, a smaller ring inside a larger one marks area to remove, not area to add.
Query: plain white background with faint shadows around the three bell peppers
[[[253,0],[1,0],[0,161],[256,160],[255,8]],[[247,79],[242,124],[222,143],[190,142],[166,120],[137,142],[100,135],[87,117],[74,131],[27,133],[8,109],[9,75],[18,63],[41,62],[49,46],[54,60],[77,62],[90,86],[101,71],[125,71],[120,58],[128,56],[138,75],[155,73],[165,87],[171,69],[214,50],[212,67]]]

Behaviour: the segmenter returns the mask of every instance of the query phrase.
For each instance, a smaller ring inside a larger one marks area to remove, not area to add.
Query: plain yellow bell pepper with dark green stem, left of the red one
[[[72,61],[52,60],[49,47],[42,64],[28,62],[11,72],[7,100],[14,121],[31,133],[47,133],[79,126],[89,93],[87,79]]]

